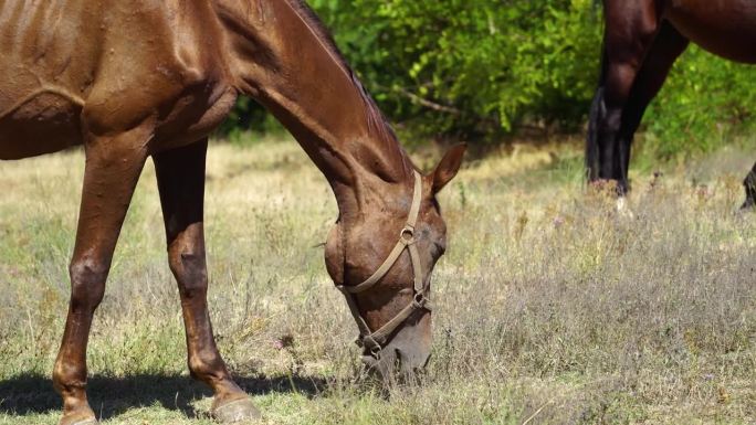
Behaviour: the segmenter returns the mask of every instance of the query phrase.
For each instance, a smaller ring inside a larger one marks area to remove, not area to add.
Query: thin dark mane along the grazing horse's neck
[[[338,64],[342,71],[344,71],[346,76],[351,81],[351,84],[354,84],[355,88],[357,88],[357,93],[359,93],[363,102],[365,103],[368,130],[378,136],[378,138],[384,142],[392,142],[398,145],[397,136],[386,120],[384,113],[380,111],[378,105],[376,105],[376,102],[372,99],[372,96],[370,96],[357,75],[355,75],[355,72],[351,70],[349,64],[347,64],[344,55],[336,45],[333,35],[323,24],[321,18],[315,14],[315,12],[304,2],[304,0],[285,1],[300,15],[300,18],[302,18],[309,30],[313,31],[315,36],[318,38],[326,52]]]

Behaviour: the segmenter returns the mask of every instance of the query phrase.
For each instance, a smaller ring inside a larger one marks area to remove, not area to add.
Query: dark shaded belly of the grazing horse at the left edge
[[[55,93],[42,93],[0,116],[0,160],[52,153],[82,144],[82,108]]]

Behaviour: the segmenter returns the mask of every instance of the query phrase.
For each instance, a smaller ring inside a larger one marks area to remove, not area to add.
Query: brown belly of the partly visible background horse
[[[756,63],[756,2],[672,0],[665,18],[704,50],[735,62]]]

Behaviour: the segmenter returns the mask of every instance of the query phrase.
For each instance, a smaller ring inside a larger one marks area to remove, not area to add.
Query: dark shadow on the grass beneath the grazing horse
[[[300,393],[313,397],[327,386],[323,378],[301,375],[235,376],[235,381],[250,395]],[[166,410],[181,411],[188,417],[198,417],[206,413],[196,412],[191,402],[212,396],[212,391],[204,384],[177,375],[92,376],[87,393],[92,408],[103,419],[118,416],[129,408],[156,404]],[[59,412],[61,408],[61,397],[48,376],[19,375],[0,381],[0,414],[24,416]]]

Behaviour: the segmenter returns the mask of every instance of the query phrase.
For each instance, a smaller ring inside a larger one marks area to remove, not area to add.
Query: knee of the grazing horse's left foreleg
[[[77,259],[69,266],[71,308],[75,312],[94,312],[105,296],[108,265],[92,258]]]

